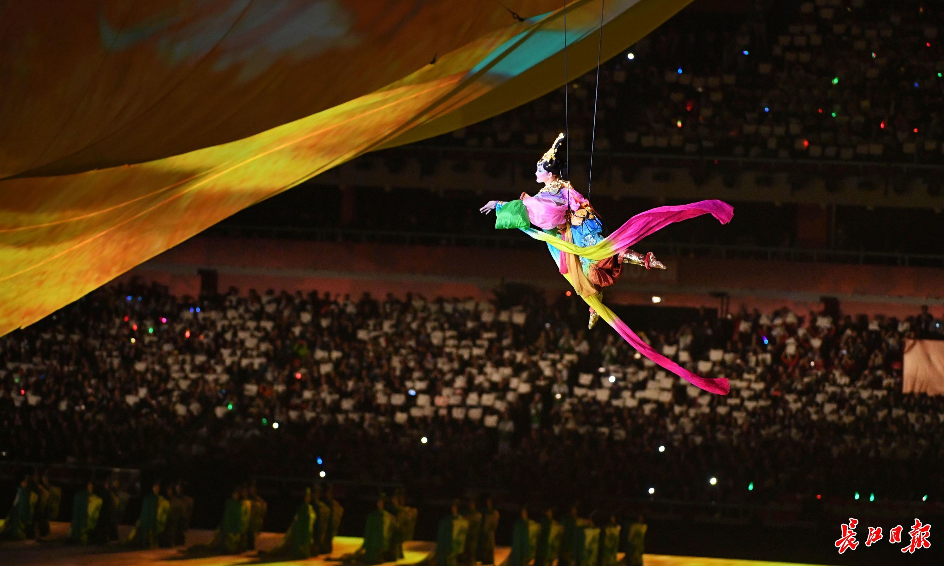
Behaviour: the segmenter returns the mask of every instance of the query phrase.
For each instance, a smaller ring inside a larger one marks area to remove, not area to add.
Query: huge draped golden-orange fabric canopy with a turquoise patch
[[[690,1],[606,0],[603,58]],[[560,87],[563,8],[563,0],[8,3],[0,335],[348,159]],[[567,6],[572,76],[597,63],[600,8]]]

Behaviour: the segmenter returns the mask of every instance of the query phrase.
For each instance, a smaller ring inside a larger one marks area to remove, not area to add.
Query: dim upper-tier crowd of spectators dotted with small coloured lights
[[[758,0],[746,14],[683,10],[601,67],[596,149],[940,163],[942,20],[925,5]],[[597,75],[575,78],[571,148],[588,150]],[[543,147],[564,125],[559,90],[440,141]]]

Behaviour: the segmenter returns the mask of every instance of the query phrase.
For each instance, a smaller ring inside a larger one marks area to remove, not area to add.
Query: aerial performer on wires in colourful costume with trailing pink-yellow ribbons
[[[622,273],[624,264],[646,269],[666,269],[651,252],[641,254],[630,246],[666,225],[702,214],[711,214],[721,224],[728,224],[734,208],[719,200],[705,200],[689,205],[659,207],[640,212],[626,224],[603,237],[603,225],[597,211],[583,195],[576,191],[563,174],[566,168],[558,150],[564,134],[559,134],[550,149],[538,159],[535,178],[544,187],[534,196],[522,192],[514,201],[489,201],[480,212],[495,210],[495,227],[520,228],[535,240],[548,244],[551,258],[590,307],[589,327],[602,318],[632,347],[666,370],[683,377],[704,391],[727,394],[728,379],[707,378],[689,372],[679,364],[658,353],[642,341],[632,329],[603,305],[602,289],[613,285]],[[537,226],[536,229],[534,226]]]

